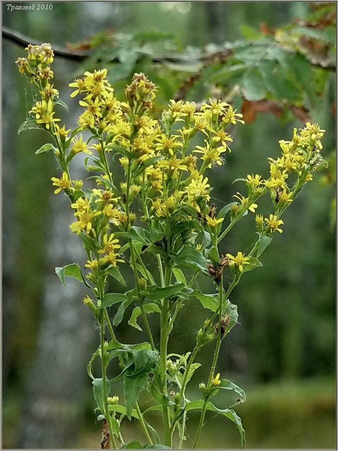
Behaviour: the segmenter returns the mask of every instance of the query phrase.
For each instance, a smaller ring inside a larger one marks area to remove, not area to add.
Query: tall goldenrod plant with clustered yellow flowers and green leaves
[[[88,295],[83,303],[100,327],[100,342],[87,370],[97,419],[104,424],[102,447],[179,449],[191,410],[200,410],[193,448],[198,445],[206,410],[232,421],[244,447],[244,429],[232,410],[245,401],[244,391],[221,378],[216,369],[221,342],[238,318],[229,296],[246,272],[261,266],[258,259],[262,252],[274,233],[282,232],[283,212],[312,179],[312,172],[326,164],[320,155],[324,130],[310,123],[294,129],[290,141],[279,141],[281,155],[275,160],[268,158],[269,175],[248,174],[237,179],[245,193],[237,192],[235,200],[218,211],[211,201],[207,175],[213,166],[221,166],[224,155],[230,152],[230,126],[244,123],[231,105],[211,99],[201,106],[171,100],[156,120],[150,112],[157,88],[144,74],[134,74],[121,102],[114,97],[107,71],[102,69],[85,72],[69,85],[74,89],[70,97],[80,98],[83,112],[78,127],[67,129],[59,124],[55,111],[58,104],[66,105],[51,84],[50,45],[29,45],[26,51],[27,57],[19,58],[16,64],[36,88],[39,100],[19,132],[40,128],[49,133],[52,143],[35,153],[54,154],[60,168],[51,179],[54,193],[69,197],[74,211],[70,230],[78,235],[86,252],[84,268],[71,263],[55,272],[63,284],[65,277],[74,277],[86,286]],[[196,135],[202,139],[196,141]],[[86,154],[83,161],[89,176],[85,187],[82,180],[71,177],[71,162],[79,153]],[[125,180],[120,186],[116,186],[111,171],[112,166],[116,171],[118,163]],[[265,194],[271,197],[271,210],[252,217],[256,241],[251,250],[246,255],[240,250],[236,255],[227,253],[223,238],[243,216],[259,211],[257,202]],[[150,272],[144,263],[151,256],[157,273]],[[119,271],[126,264],[133,271],[133,286],[124,293],[107,292],[110,277],[126,287]],[[229,284],[223,280],[224,272]],[[212,280],[214,293],[199,290],[198,276]],[[196,299],[205,309],[205,321],[196,334],[194,348],[184,355],[168,354],[168,339],[180,309]],[[112,306],[115,314],[111,323],[108,310]],[[128,324],[140,329],[137,320],[141,317],[147,342],[122,344],[116,337],[116,326],[129,306],[134,308]],[[158,317],[156,330],[150,328],[149,314]],[[153,334],[158,329],[157,349]],[[200,398],[190,400],[186,387],[200,366],[197,354],[211,341],[215,344],[208,378],[199,384]],[[94,376],[92,363],[96,358],[101,371]],[[109,378],[107,370],[114,359],[118,359],[120,371]],[[121,380],[123,400],[114,394],[114,383]],[[143,390],[149,392],[153,403],[142,411],[138,398]],[[224,408],[212,402],[218,393]],[[149,424],[148,413],[153,411],[162,414],[163,438]],[[145,444],[125,443],[121,423],[131,418],[139,421]]]

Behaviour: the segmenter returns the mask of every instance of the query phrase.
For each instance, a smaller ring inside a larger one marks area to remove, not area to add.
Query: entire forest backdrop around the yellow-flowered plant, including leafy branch
[[[222,377],[246,391],[238,413],[247,447],[335,447],[336,4],[51,2],[44,11],[38,4],[10,11],[2,3],[2,447],[97,447],[100,433],[85,371],[98,331],[81,287],[69,281],[65,289],[54,274],[55,266],[84,261],[84,253],[68,229],[66,199],[52,198],[52,156],[34,155],[43,131],[17,134],[31,106],[30,87],[14,64],[24,53],[25,38],[17,34],[66,49],[55,55],[54,84],[69,106],[62,113],[69,127],[78,105],[68,83],[100,67],[108,69],[117,97],[133,72],[145,72],[159,87],[155,115],[172,98],[231,102],[246,124],[212,176],[220,205],[236,192],[233,179],[266,176],[266,158],[277,155],[278,139],[290,139],[293,127],[311,120],[326,129],[329,167],[287,210],[284,233],[267,248],[263,268],[232,295],[240,326],[219,365]],[[85,177],[80,167],[78,178]],[[241,224],[228,235],[226,252],[250,246],[252,224],[249,218]],[[201,311],[197,303],[189,307],[173,332],[172,352],[194,343]],[[144,339],[127,318],[117,334],[122,342]],[[208,357],[200,356],[196,390]],[[201,447],[238,447],[231,424],[212,415],[206,421]]]

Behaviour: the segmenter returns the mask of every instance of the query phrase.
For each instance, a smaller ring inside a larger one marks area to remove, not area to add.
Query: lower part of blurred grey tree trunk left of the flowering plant
[[[68,228],[74,217],[67,197],[58,195],[52,200],[50,268],[44,283],[37,354],[19,427],[19,448],[59,448],[76,435],[88,382],[85,368],[92,353],[92,315],[81,302],[84,286],[67,278],[64,288],[54,274],[55,266],[81,262],[84,250]]]

